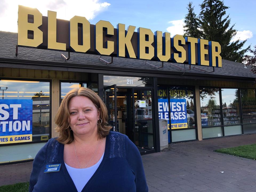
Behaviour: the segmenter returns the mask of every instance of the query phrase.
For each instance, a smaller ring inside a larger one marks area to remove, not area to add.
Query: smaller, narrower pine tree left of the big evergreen
[[[188,13],[185,17],[185,23],[186,25],[183,26],[184,28],[184,37],[194,37],[194,38],[200,38],[201,31],[199,28],[199,21],[197,18],[197,15],[194,13],[194,6],[192,7],[192,2],[189,2],[187,5]]]

